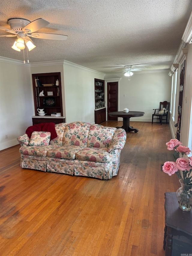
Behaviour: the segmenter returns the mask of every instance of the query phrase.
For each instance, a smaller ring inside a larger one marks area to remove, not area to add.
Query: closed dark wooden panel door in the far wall
[[[117,117],[109,116],[110,112],[118,111],[118,82],[107,83],[107,120],[117,121]]]

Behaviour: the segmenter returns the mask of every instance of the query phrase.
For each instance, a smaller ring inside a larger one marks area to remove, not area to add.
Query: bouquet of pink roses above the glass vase
[[[190,149],[182,146],[182,143],[177,139],[171,139],[166,145],[168,150],[174,150],[173,156],[176,161],[165,162],[162,170],[170,176],[176,173],[180,179],[183,179],[185,185],[192,185],[192,157],[183,157],[183,155],[189,155]]]

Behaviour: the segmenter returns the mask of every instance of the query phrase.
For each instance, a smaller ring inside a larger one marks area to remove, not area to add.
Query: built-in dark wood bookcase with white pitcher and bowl
[[[37,80],[38,79],[38,83]],[[56,81],[58,80],[56,85]],[[34,95],[34,106],[35,106],[35,116],[39,118],[32,118],[37,124],[41,122],[55,122],[58,123],[58,117],[55,118],[51,116],[51,113],[58,112],[61,113],[60,119],[63,117],[63,106],[62,106],[62,92],[61,92],[61,73],[41,73],[32,74],[33,82],[33,95]],[[38,86],[38,85],[42,86]],[[40,95],[43,93],[43,96]],[[38,115],[38,109],[44,109],[46,113],[45,116]],[[49,117],[49,119],[47,119]]]

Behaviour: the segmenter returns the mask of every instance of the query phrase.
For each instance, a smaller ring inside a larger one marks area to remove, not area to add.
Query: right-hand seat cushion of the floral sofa
[[[92,161],[92,162],[110,162],[112,155],[107,149],[84,148],[76,153],[76,160]]]

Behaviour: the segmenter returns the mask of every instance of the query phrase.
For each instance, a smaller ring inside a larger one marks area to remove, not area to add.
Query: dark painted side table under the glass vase
[[[165,193],[165,256],[192,256],[192,211],[179,209],[175,192]]]

